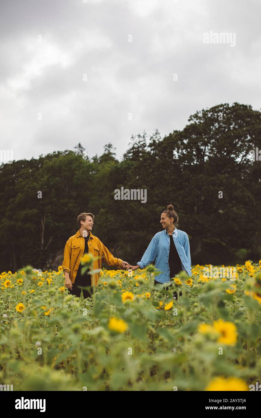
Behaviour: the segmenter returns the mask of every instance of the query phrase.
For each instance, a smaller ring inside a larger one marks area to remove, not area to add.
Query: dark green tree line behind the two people
[[[192,264],[261,258],[261,161],[250,153],[261,150],[260,111],[198,111],[164,138],[132,136],[120,161],[111,143],[94,157],[84,145],[0,166],[0,271],[57,268],[81,212],[95,215],[93,234],[115,256],[136,264],[168,204]],[[146,190],[146,202],[114,199],[121,187]]]

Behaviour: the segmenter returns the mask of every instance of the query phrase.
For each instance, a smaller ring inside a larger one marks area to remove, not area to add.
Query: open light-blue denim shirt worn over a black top
[[[176,245],[178,255],[181,259],[182,270],[191,276],[191,258],[189,250],[189,237],[188,234],[180,229],[175,228],[172,233],[172,239]],[[160,273],[155,277],[155,280],[160,283],[166,283],[170,281],[170,268],[168,265],[168,254],[170,250],[170,239],[171,235],[164,229],[163,231],[157,232],[150,241],[147,250],[142,256],[141,261],[137,264],[141,269],[155,261],[155,267],[163,273]]]

